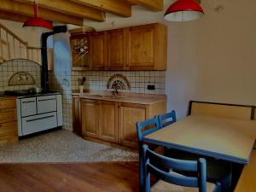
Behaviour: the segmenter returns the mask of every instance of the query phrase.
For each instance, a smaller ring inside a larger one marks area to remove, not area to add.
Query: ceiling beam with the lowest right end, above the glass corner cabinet
[[[15,13],[31,17],[34,15],[33,5],[15,2],[13,0],[0,0],[0,11]],[[38,8],[39,16],[45,20],[54,20],[76,26],[83,26],[83,18],[65,15],[49,9]]]

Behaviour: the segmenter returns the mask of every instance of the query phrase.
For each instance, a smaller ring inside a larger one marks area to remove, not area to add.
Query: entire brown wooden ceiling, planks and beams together
[[[39,16],[76,26],[84,18],[103,22],[106,13],[131,17],[131,6],[140,5],[151,11],[162,11],[164,0],[38,0]],[[33,15],[34,0],[0,0],[0,19],[24,22]]]

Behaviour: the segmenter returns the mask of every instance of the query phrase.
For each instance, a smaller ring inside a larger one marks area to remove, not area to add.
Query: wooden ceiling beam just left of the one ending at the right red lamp
[[[123,17],[131,16],[131,4],[120,0],[69,0]]]

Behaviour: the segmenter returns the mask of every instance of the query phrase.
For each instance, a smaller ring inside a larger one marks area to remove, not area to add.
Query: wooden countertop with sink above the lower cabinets
[[[120,93],[119,96],[112,96],[110,91],[90,91],[86,93],[73,93],[73,96],[79,96],[85,99],[103,100],[110,102],[129,102],[143,105],[166,102],[166,96],[131,93]]]

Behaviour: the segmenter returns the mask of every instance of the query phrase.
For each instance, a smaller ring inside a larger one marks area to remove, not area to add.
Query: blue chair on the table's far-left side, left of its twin
[[[143,169],[143,137],[148,134],[160,130],[158,117],[154,117],[153,119],[146,119],[143,122],[137,123],[137,140],[138,140],[138,148],[139,148],[139,189],[140,192],[143,192],[144,188],[144,169]]]

